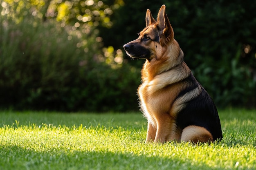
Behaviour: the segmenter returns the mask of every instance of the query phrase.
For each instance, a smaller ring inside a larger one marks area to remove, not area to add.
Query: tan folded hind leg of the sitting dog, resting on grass
[[[213,141],[213,137],[206,128],[192,125],[183,129],[181,140],[193,143],[210,143]]]

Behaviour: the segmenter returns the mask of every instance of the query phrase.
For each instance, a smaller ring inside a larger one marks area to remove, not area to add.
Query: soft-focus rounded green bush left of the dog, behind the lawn
[[[138,109],[136,88],[130,87],[138,86],[139,77],[130,69],[139,69],[115,62],[123,60],[120,50],[101,51],[93,27],[82,34],[85,30],[29,14],[0,17],[1,108]]]

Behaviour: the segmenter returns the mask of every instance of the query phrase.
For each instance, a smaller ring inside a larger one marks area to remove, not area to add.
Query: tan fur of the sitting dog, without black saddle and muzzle
[[[161,33],[157,31],[159,28]],[[150,39],[158,36],[159,42],[142,41],[145,36]],[[150,10],[147,10],[146,28],[140,32],[137,40],[130,42],[150,49],[150,57],[141,70],[142,84],[138,88],[140,107],[148,120],[146,142],[212,141],[211,133],[205,128],[188,126],[182,130],[176,126],[177,113],[186,107],[186,102],[198,97],[202,88],[198,86],[186,95],[178,97],[182,90],[191,86],[182,81],[191,75],[191,70],[183,62],[183,52],[173,37],[173,29],[163,5],[157,21],[152,17]]]

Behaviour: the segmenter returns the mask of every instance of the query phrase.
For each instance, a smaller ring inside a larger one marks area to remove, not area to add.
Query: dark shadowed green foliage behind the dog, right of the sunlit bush
[[[217,106],[256,107],[256,1],[125,2],[112,15],[113,31],[100,31],[106,45],[121,48],[120,42],[136,39],[145,27],[146,9],[156,18],[166,4],[185,62]]]

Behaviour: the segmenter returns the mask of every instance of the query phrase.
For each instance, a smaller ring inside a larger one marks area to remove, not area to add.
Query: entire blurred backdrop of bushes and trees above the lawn
[[[138,110],[143,60],[123,44],[166,4],[185,62],[217,107],[256,108],[256,1],[1,0],[0,108]]]

